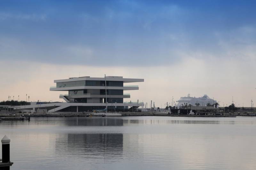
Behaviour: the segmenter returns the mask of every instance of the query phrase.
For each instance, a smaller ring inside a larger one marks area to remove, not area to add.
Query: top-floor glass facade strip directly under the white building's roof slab
[[[107,81],[107,86],[123,87],[122,81]],[[105,86],[105,81],[100,80],[81,80],[56,83],[56,87],[74,87],[74,86]]]

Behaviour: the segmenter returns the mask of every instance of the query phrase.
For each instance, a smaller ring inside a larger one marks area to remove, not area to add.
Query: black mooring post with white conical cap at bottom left
[[[5,135],[2,142],[2,163],[0,163],[0,170],[10,170],[13,162],[10,162],[10,142],[11,140]]]

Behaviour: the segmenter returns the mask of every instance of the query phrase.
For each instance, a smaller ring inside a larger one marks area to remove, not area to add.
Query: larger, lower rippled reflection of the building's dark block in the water
[[[59,134],[56,138],[57,155],[65,154],[69,158],[82,157],[88,159],[122,159],[123,134]]]

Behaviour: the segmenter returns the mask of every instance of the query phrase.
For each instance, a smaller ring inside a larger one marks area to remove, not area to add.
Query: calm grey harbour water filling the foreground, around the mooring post
[[[256,169],[256,117],[33,118],[5,134],[12,170]]]

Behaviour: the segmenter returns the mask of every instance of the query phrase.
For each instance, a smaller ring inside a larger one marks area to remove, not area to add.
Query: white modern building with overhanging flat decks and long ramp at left
[[[106,83],[105,83],[106,82]],[[77,77],[54,80],[56,86],[50,87],[50,91],[63,91],[60,98],[65,102],[34,103],[26,106],[18,106],[13,109],[47,109],[48,112],[92,112],[92,110],[105,109],[108,111],[135,110],[144,106],[143,102],[124,102],[124,98],[130,98],[129,90],[139,90],[138,85],[124,85],[126,83],[144,82],[144,79],[123,78],[107,76],[103,78]],[[107,92],[107,94],[106,94]],[[107,104],[106,104],[107,101]]]

